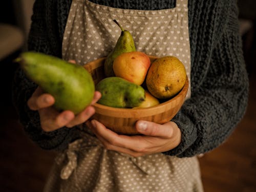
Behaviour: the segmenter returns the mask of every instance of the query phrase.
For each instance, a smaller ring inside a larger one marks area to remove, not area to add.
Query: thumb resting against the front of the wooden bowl
[[[137,121],[135,125],[136,130],[143,135],[163,138],[171,138],[173,136],[173,129],[175,126],[178,127],[176,123],[172,121],[161,125],[151,121],[143,120]]]

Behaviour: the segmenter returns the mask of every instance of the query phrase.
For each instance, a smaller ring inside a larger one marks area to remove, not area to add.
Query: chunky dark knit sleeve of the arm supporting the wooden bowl
[[[214,149],[228,138],[246,111],[249,83],[236,5],[230,6],[230,13],[221,36],[216,35],[218,41],[203,81],[191,82],[200,86],[191,90],[191,98],[173,119],[182,132],[182,141],[164,152],[166,155],[191,157]],[[197,76],[193,69],[191,75]]]

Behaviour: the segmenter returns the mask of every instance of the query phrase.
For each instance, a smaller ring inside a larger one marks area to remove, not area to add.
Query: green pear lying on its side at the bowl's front
[[[97,85],[101,93],[98,103],[113,108],[134,108],[145,100],[145,90],[121,77],[106,77]]]

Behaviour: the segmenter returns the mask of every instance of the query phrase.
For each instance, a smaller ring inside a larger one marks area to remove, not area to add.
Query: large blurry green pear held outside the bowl
[[[57,110],[78,114],[93,100],[94,81],[82,66],[38,52],[24,52],[16,61],[29,79],[55,98]]]

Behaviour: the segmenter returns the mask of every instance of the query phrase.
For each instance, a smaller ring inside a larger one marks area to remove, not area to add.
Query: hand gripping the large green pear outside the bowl
[[[68,110],[59,113],[52,106],[55,102],[54,97],[43,93],[42,89],[38,87],[28,100],[28,106],[29,109],[38,111],[42,130],[51,132],[63,126],[71,128],[87,121],[95,113],[92,104],[96,103],[100,97],[100,92],[96,91],[91,104],[75,116],[72,111]]]

